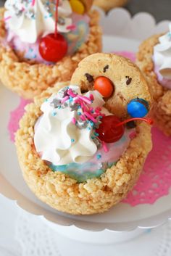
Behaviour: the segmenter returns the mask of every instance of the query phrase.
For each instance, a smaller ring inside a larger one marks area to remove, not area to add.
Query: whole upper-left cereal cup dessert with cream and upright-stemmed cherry
[[[101,51],[99,14],[90,10],[92,2],[7,0],[6,9],[0,9],[1,82],[33,99],[70,80],[81,59]]]

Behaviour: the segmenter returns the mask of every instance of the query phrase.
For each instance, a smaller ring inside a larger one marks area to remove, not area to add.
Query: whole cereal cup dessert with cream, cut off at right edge
[[[171,136],[171,24],[170,32],[144,41],[137,54],[137,64],[149,83],[154,104],[151,116],[167,136]]]

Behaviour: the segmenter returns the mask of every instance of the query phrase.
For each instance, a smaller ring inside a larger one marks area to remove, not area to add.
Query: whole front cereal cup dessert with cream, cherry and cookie
[[[151,150],[150,104],[130,60],[83,59],[70,83],[37,96],[20,120],[15,144],[30,189],[73,215],[109,210],[133,188]]]

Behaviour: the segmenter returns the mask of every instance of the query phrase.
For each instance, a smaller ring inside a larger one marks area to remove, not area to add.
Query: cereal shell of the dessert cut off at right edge
[[[157,80],[152,60],[154,46],[159,44],[159,36],[161,35],[152,36],[141,44],[137,54],[137,65],[148,80],[149,90],[154,99],[151,116],[159,129],[165,135],[171,136],[171,90],[164,88]]]

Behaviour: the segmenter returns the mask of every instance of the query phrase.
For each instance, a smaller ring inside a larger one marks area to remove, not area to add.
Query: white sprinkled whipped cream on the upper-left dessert
[[[53,33],[55,28],[55,0],[7,0],[4,20],[7,28],[12,30],[20,40],[30,44],[36,43],[41,35]],[[59,1],[58,31],[67,33],[72,25],[72,9],[68,0]]]

